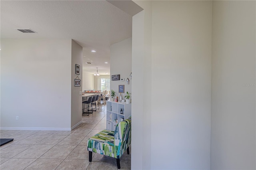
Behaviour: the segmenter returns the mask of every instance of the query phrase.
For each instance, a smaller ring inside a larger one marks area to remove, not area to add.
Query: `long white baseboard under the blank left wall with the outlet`
[[[82,123],[82,121],[81,121],[81,123]],[[56,130],[56,131],[71,131],[71,128],[0,127],[0,130]]]

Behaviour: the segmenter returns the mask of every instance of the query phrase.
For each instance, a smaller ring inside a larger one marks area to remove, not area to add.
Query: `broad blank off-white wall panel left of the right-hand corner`
[[[211,19],[211,1],[152,2],[152,169],[210,168]]]

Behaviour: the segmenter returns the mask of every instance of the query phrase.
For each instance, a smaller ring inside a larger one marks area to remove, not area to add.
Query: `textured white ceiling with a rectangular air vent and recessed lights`
[[[110,73],[110,45],[132,36],[132,16],[105,0],[1,0],[0,14],[1,38],[73,39],[86,56],[83,71],[92,74],[96,67]]]

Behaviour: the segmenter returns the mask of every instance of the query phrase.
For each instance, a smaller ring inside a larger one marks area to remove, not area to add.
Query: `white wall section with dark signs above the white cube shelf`
[[[128,38],[118,43],[110,45],[110,89],[116,92],[116,96],[120,96],[118,93],[118,85],[124,85],[124,91],[132,92],[132,79],[130,79],[130,73],[132,72],[132,38]],[[120,79],[124,78],[124,81],[112,81],[111,75],[120,74]],[[126,79],[130,80],[129,85],[126,84]],[[122,94],[124,98],[125,93]],[[132,94],[131,94],[132,97]]]

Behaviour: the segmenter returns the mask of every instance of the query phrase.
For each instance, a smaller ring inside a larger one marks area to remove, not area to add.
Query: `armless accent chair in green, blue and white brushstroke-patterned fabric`
[[[102,130],[87,141],[89,162],[92,162],[92,152],[116,158],[117,168],[120,169],[120,157],[127,151],[130,154],[131,116],[116,125],[115,131]]]

